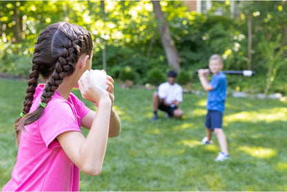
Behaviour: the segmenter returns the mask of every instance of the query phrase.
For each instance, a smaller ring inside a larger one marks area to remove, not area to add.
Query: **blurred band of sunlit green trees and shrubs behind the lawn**
[[[0,73],[27,77],[39,32],[67,21],[91,32],[92,67],[119,81],[158,85],[174,68],[179,84],[199,88],[195,70],[219,53],[224,70],[256,71],[251,78],[229,76],[230,88],[287,93],[286,1],[202,1],[204,12],[186,1],[157,3],[161,21],[150,1],[0,1]],[[173,46],[171,59],[165,43]]]

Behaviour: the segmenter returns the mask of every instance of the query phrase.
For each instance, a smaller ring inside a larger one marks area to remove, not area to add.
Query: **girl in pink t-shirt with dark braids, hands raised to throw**
[[[15,122],[17,162],[2,190],[79,191],[79,171],[99,175],[108,137],[120,133],[112,77],[107,75],[106,90],[92,84],[90,73],[80,79],[92,65],[92,39],[71,23],[41,32],[32,64],[23,112]],[[46,84],[38,85],[39,75]],[[74,86],[97,113],[71,93]],[[90,130],[86,138],[81,126]]]

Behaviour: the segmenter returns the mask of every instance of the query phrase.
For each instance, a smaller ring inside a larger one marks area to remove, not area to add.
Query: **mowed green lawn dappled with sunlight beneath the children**
[[[0,79],[0,189],[10,180],[16,162],[14,120],[21,113],[26,85]],[[215,135],[214,144],[200,144],[206,95],[184,94],[181,120],[159,111],[159,120],[150,122],[153,91],[116,84],[121,135],[108,140],[100,175],[81,173],[80,191],[287,190],[286,102],[228,96],[224,132],[231,159],[214,162],[219,152]],[[73,93],[81,98],[79,90]]]

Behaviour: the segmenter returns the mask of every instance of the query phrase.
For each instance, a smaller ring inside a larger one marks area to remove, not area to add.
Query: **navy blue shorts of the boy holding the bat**
[[[220,111],[209,111],[206,115],[206,128],[210,128],[212,131],[215,128],[222,128],[222,117],[224,113]]]

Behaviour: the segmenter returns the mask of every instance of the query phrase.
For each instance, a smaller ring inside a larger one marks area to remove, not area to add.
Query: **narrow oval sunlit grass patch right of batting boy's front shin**
[[[272,148],[263,148],[263,147],[240,146],[239,150],[247,153],[248,155],[259,158],[270,158],[275,156],[277,153]]]

